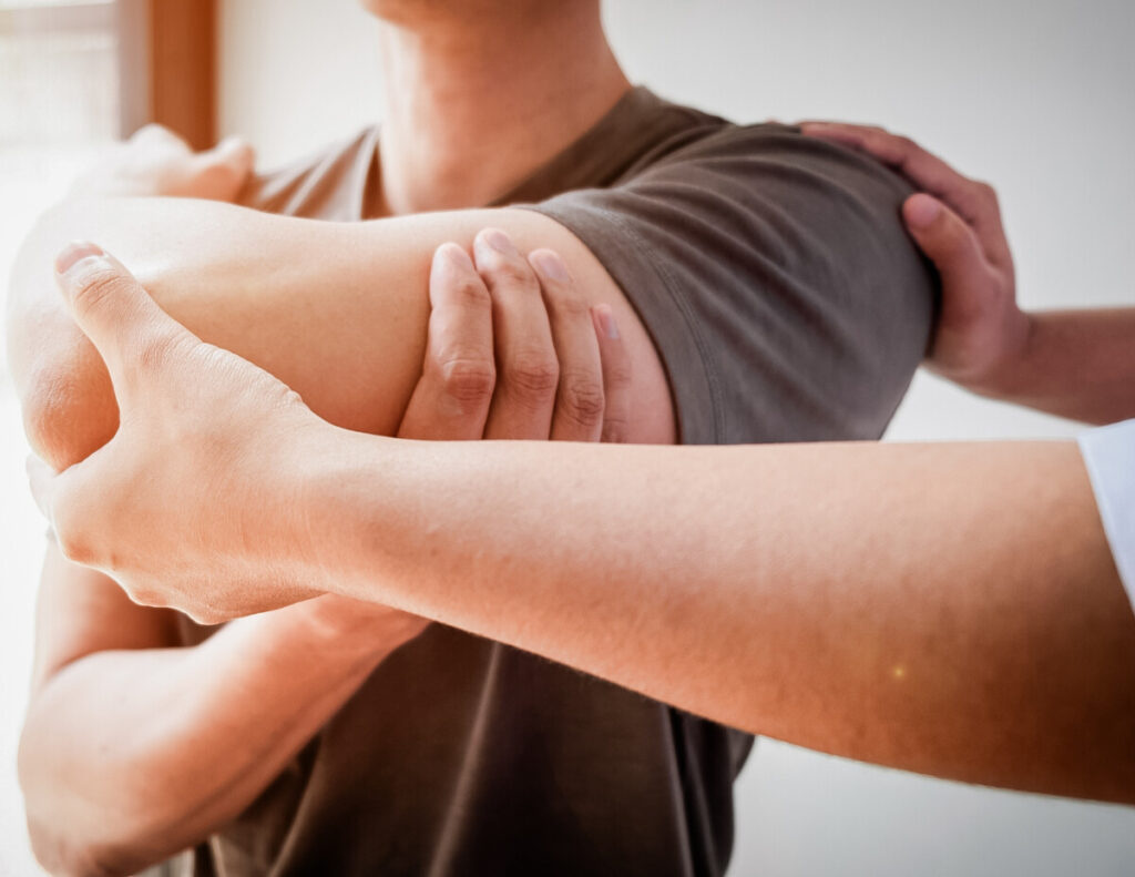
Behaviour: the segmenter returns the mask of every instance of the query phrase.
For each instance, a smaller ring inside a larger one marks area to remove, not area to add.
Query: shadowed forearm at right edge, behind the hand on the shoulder
[[[1085,423],[1135,417],[1135,308],[1041,311],[1029,327],[982,392]]]

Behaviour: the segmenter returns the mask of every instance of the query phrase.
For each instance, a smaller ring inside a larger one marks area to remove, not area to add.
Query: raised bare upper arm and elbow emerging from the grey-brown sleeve
[[[49,212],[17,260],[9,358],[32,441],[61,467],[103,444],[117,425],[101,360],[56,290],[52,260],[68,240],[96,240],[174,317],[280,377],[325,419],[390,433],[421,367],[430,256],[449,240],[468,248],[488,225],[526,252],[558,250],[579,287],[612,304],[634,368],[631,437],[671,440],[669,391],[645,331],[590,252],[539,214],[334,224],[194,200],[100,199]]]

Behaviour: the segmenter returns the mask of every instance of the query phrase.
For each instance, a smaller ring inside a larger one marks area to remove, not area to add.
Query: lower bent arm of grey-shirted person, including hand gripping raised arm
[[[630,369],[622,342],[598,331],[609,312],[581,306],[570,278],[557,278],[565,269],[555,253],[521,261],[520,284],[484,267],[482,279],[460,248],[439,249],[423,377],[400,434],[595,441],[623,427]],[[510,317],[499,328],[511,332],[497,332],[503,360],[524,340],[597,392],[557,400],[513,387],[490,409],[495,304]],[[456,379],[447,369],[455,354],[464,369]],[[131,603],[53,549],[40,605],[20,778],[36,853],[66,874],[134,872],[225,825],[424,626],[326,595],[238,619],[195,648],[163,648],[177,643],[171,613]]]

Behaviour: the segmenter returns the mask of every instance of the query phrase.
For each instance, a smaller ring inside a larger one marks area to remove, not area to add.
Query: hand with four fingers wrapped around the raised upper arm
[[[504,232],[478,235],[476,264],[454,243],[434,254],[426,358],[398,436],[621,441],[630,357],[611,309],[587,307],[557,253],[526,258],[510,244],[505,256],[486,245],[491,235]],[[382,650],[392,621],[402,642],[428,624],[337,594],[309,601],[306,611],[344,635],[373,628]]]

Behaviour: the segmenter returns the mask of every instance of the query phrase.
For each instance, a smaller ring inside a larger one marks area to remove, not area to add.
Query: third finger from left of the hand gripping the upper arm
[[[560,362],[552,438],[597,442],[603,434],[603,365],[590,309],[558,253],[535,250],[528,261],[540,281]]]

